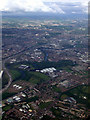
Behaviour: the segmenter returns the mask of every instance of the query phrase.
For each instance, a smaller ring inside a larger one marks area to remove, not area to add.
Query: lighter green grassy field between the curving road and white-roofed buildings
[[[50,79],[47,75],[39,72],[10,70],[10,73],[13,80],[25,80],[29,81],[32,84],[37,84]]]

